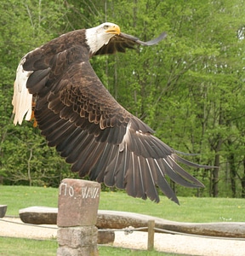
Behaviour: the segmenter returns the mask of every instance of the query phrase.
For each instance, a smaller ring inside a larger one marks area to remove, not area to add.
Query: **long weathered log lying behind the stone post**
[[[28,207],[20,210],[20,218],[24,223],[29,224],[56,224],[57,212],[57,208]],[[155,228],[162,230],[199,236],[245,238],[243,222],[182,223],[133,212],[99,210],[95,225],[98,229],[120,230],[128,226],[147,227],[149,220],[154,220]],[[155,232],[158,231],[155,230]]]

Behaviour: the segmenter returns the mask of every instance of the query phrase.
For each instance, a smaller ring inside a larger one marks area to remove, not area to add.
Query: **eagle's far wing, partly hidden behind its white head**
[[[166,37],[167,33],[162,32],[159,37],[151,39],[147,42],[143,42],[140,41],[139,38],[121,32],[119,35],[115,35],[113,38],[111,38],[110,42],[100,48],[95,53],[95,55],[115,54],[117,51],[124,53],[127,48],[134,49],[135,45],[137,44],[151,46],[154,44],[158,44],[160,41],[162,41],[162,39]]]

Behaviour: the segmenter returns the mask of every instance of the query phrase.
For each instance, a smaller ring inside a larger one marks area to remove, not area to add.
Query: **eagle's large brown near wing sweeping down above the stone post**
[[[34,70],[26,86],[37,96],[35,117],[48,145],[81,177],[88,174],[134,197],[159,201],[158,186],[178,203],[167,176],[185,187],[202,187],[176,163],[182,159],[174,150],[111,96],[85,52],[75,46],[52,58],[41,49],[42,58],[26,56],[23,67]]]

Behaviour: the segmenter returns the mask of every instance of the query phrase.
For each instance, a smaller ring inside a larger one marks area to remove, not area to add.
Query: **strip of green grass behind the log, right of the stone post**
[[[179,196],[180,206],[162,196],[160,203],[135,199],[125,193],[104,192],[100,209],[138,212],[180,222],[245,221],[243,199]]]

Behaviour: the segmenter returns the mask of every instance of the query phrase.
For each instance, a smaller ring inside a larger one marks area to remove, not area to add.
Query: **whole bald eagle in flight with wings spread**
[[[103,23],[67,32],[27,53],[14,81],[14,125],[33,116],[48,146],[55,147],[80,177],[128,195],[159,201],[157,187],[179,203],[166,176],[185,187],[204,187],[177,162],[208,168],[179,157],[154,137],[152,129],[111,96],[89,59],[135,45],[153,45],[166,37],[142,42]],[[33,112],[33,113],[32,113]]]

